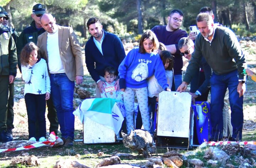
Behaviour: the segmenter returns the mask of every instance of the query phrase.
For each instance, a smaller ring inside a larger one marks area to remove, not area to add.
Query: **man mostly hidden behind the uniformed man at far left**
[[[8,26],[9,15],[6,11],[4,11],[5,17],[3,17],[2,25],[9,29],[12,34],[12,38],[16,44],[18,33],[15,31],[15,28],[10,28]],[[12,138],[12,129],[14,129],[13,121],[14,121],[14,82],[9,83],[9,98],[8,98],[8,105],[7,105],[7,136]]]

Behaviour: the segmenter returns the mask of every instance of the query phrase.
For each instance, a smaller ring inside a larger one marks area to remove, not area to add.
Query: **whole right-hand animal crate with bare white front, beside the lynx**
[[[156,146],[188,149],[193,144],[193,110],[187,92],[159,94]]]

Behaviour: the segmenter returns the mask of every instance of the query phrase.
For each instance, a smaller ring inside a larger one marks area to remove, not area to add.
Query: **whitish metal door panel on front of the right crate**
[[[191,95],[162,91],[158,102],[156,135],[189,138]]]

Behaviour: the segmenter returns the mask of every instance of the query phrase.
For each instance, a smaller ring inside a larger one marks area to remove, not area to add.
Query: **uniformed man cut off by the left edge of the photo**
[[[7,102],[9,83],[14,82],[17,73],[16,46],[10,30],[2,25],[4,11],[0,6],[0,142],[12,141],[12,137],[6,133]]]

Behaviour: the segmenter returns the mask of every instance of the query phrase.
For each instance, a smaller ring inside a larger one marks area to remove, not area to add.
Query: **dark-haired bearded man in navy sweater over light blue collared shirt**
[[[118,71],[126,54],[121,40],[116,35],[102,29],[100,19],[90,18],[86,25],[91,37],[85,45],[85,63],[92,79],[97,83],[96,97],[100,98],[103,84],[106,85],[105,68],[112,66]],[[116,81],[116,85],[119,88],[119,80]]]

